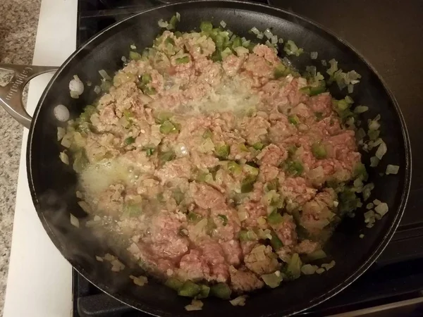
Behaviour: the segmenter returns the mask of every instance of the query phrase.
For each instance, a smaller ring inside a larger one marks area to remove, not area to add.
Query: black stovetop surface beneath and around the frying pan
[[[172,0],[78,0],[77,46],[128,15]],[[255,2],[267,3],[267,0]],[[336,32],[372,63],[405,116],[412,185],[400,226],[372,268],[346,290],[304,313],[328,316],[421,296],[423,290],[423,1],[269,0]],[[386,277],[389,277],[388,279]],[[74,317],[147,316],[73,274]]]

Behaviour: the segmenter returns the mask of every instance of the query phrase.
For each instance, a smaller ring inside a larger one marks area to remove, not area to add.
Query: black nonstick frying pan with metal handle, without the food
[[[327,273],[303,276],[274,290],[256,292],[243,307],[233,307],[218,299],[207,299],[204,300],[203,310],[195,312],[195,315],[283,316],[304,311],[350,285],[386,247],[400,222],[407,201],[411,156],[410,141],[400,108],[376,70],[343,40],[293,13],[245,1],[188,1],[159,6],[133,15],[90,39],[63,63],[39,99],[32,120],[23,109],[18,93],[28,78],[51,68],[1,66],[16,70],[11,84],[0,90],[1,104],[20,123],[30,128],[27,178],[39,219],[63,256],[80,274],[104,292],[153,315],[192,315],[184,309],[189,299],[178,297],[175,292],[151,279],[148,285],[137,287],[128,278],[130,266],[121,273],[112,273],[106,263],[95,260],[95,255],[104,255],[113,250],[104,241],[94,237],[90,230],[75,228],[69,221],[70,212],[79,218],[86,215],[75,197],[76,175],[71,167],[59,159],[63,149],[57,141],[56,130],[65,123],[54,116],[55,106],[63,104],[70,111],[71,118],[75,118],[85,105],[96,98],[93,89],[85,87],[79,99],[71,99],[68,83],[73,75],[78,75],[82,82],[93,82],[94,86],[100,80],[98,70],[104,69],[111,74],[121,68],[121,56],[128,55],[128,46],[132,43],[139,49],[151,46],[159,33],[157,20],[169,19],[176,12],[182,17],[178,24],[180,31],[194,30],[202,20],[212,19],[214,24],[224,20],[233,32],[252,39],[252,35],[247,33],[252,27],[260,30],[272,27],[274,34],[283,39],[293,39],[305,51],[317,51],[319,60],[336,58],[340,68],[356,70],[362,75],[360,84],[352,94],[357,104],[369,106],[362,121],[366,123],[367,119],[381,114],[381,137],[388,146],[388,153],[378,168],[368,170],[369,179],[375,184],[372,197],[386,201],[389,206],[386,216],[377,221],[372,229],[365,228],[362,216],[364,207],[357,211],[355,218],[345,218],[324,247],[330,258],[336,261],[336,266]],[[307,55],[291,58],[293,65],[303,70],[305,66],[314,64],[324,73],[320,61],[312,61]],[[342,97],[337,88],[332,93],[334,97]],[[363,159],[368,163],[369,154],[363,152]],[[384,172],[387,163],[399,165],[399,173],[379,175]],[[363,239],[360,239],[360,234],[364,234]]]

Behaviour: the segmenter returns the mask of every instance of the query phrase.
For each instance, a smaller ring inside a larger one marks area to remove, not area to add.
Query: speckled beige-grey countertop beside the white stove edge
[[[0,63],[30,64],[41,0],[0,1]],[[23,128],[0,107],[0,316],[11,251]]]

